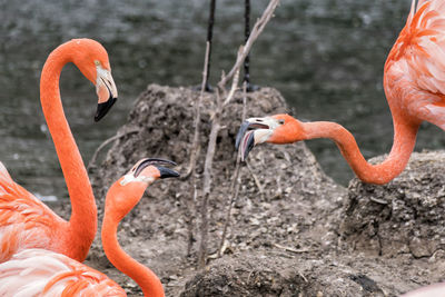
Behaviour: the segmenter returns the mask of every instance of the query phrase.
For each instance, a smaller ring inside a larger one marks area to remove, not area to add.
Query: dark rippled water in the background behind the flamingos
[[[208,2],[0,0],[0,160],[14,179],[43,196],[67,195],[39,102],[40,69],[55,47],[89,37],[110,56],[120,101],[99,123],[92,121],[91,83],[72,66],[61,77],[66,113],[88,162],[147,83],[200,81]],[[268,1],[251,2],[254,20]],[[409,0],[283,0],[253,50],[251,80],[279,89],[303,120],[347,127],[365,157],[387,152],[393,128],[383,66],[409,6]],[[214,82],[243,41],[244,1],[218,0],[217,9]],[[307,143],[334,179],[346,184],[353,176],[329,140]],[[443,132],[425,125],[416,149],[444,145]]]

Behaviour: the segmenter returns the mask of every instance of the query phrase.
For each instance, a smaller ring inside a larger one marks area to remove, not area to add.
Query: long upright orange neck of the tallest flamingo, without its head
[[[59,236],[66,255],[83,261],[97,231],[97,207],[90,180],[79,149],[65,117],[59,78],[63,66],[72,61],[72,43],[58,47],[48,57],[40,80],[40,101],[55,142],[71,200],[71,218]]]

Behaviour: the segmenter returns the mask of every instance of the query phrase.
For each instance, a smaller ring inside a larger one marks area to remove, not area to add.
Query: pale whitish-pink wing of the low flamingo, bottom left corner
[[[24,249],[0,264],[0,296],[127,296],[106,275],[65,255]]]

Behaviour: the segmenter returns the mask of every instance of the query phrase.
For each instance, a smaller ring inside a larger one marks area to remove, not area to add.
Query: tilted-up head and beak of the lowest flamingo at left
[[[122,219],[142,197],[145,190],[160,178],[179,177],[179,174],[165,166],[176,164],[164,159],[145,158],[139,160],[108,191],[106,209],[111,208],[117,219]],[[107,210],[106,210],[107,211]]]

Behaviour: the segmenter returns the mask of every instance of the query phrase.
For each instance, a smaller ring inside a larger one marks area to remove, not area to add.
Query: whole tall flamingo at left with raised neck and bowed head
[[[98,95],[95,120],[117,100],[117,89],[103,47],[91,39],[73,39],[53,50],[43,66],[40,97],[49,131],[67,180],[72,212],[60,218],[16,184],[0,162],[0,263],[28,248],[43,248],[83,261],[97,231],[97,207],[87,170],[63,113],[59,77],[73,62]]]

